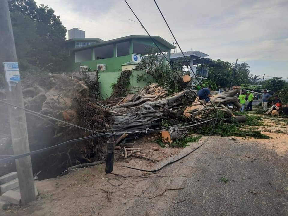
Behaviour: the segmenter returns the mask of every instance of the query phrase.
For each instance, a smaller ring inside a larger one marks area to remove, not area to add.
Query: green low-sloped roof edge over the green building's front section
[[[163,38],[161,38],[160,36],[151,36],[155,41],[158,41],[159,43],[163,44],[164,46],[170,48],[170,49],[175,49],[176,46],[174,46],[173,44],[170,44],[168,41],[164,40]],[[88,39],[88,38],[87,38]],[[125,36],[122,38],[116,38],[116,39],[112,39],[109,41],[103,41],[97,44],[92,44],[92,45],[88,45],[88,46],[83,46],[80,48],[74,48],[71,50],[74,51],[78,51],[78,50],[83,50],[83,49],[89,49],[91,47],[98,47],[98,46],[104,46],[107,44],[114,44],[120,41],[125,41],[125,40],[129,40],[129,39],[150,39],[150,37],[148,35],[129,35],[129,36]],[[73,40],[73,39],[70,39]]]

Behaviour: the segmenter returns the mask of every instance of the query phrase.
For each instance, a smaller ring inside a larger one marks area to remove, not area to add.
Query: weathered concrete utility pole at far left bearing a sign
[[[7,102],[24,107],[18,73],[16,49],[7,0],[0,0],[0,73],[5,74]],[[4,69],[4,62],[5,63]],[[9,107],[10,130],[14,155],[29,152],[25,111]],[[36,199],[30,156],[15,160],[22,204]]]

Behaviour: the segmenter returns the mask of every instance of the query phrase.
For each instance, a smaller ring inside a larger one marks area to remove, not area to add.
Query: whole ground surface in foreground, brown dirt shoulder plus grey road
[[[37,201],[11,206],[0,215],[288,215],[288,119],[265,117],[263,123],[257,128],[269,140],[210,137],[200,149],[157,173],[125,166],[156,169],[206,137],[184,149],[157,152],[151,150],[156,143],[138,140],[135,147],[161,161],[131,158],[129,163],[116,161],[108,175],[101,164],[35,181]]]

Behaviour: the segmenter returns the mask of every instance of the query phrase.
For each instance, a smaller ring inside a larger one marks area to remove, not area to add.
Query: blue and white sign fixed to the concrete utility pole
[[[18,62],[3,62],[3,65],[6,82],[8,83],[9,90],[11,91],[11,86],[20,81]]]

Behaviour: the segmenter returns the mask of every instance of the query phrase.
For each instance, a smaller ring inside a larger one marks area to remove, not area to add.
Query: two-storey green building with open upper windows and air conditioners
[[[159,36],[152,38],[170,60],[170,51],[176,47]],[[98,70],[100,91],[104,98],[111,95],[111,84],[117,82],[122,70],[133,69],[141,58],[148,54],[149,48],[156,48],[151,38],[146,35],[130,35],[109,41],[99,38],[70,38],[65,41],[65,45],[67,54],[71,57],[71,61],[74,61],[69,68],[70,71],[81,73]],[[147,82],[136,81],[137,74],[142,72],[132,73],[131,86],[147,85]]]

